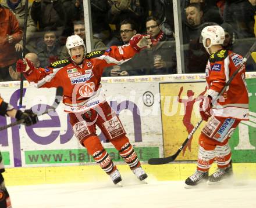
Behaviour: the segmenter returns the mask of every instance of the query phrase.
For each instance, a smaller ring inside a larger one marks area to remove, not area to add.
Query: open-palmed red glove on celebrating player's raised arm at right
[[[130,39],[130,45],[137,51],[143,48],[150,48],[152,45],[150,35],[140,35],[136,34]]]

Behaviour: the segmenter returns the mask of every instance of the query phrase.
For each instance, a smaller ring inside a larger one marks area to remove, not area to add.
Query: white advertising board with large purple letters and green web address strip
[[[13,83],[12,85],[13,86]],[[23,108],[44,111],[54,101],[55,89],[24,88]],[[159,83],[108,83],[102,85],[106,100],[119,114],[131,144],[141,161],[163,156]],[[135,90],[134,90],[135,89]],[[17,107],[18,87],[1,87],[1,96]],[[36,96],[35,96],[36,95]],[[69,116],[60,104],[54,113],[42,115],[32,127],[13,126],[0,132],[1,151],[6,167],[79,165],[93,162],[74,137]],[[15,119],[1,116],[0,125]],[[111,143],[97,130],[106,151],[114,161],[123,161]]]

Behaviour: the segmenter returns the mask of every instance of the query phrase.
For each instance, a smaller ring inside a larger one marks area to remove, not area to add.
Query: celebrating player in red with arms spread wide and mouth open
[[[36,87],[63,87],[64,111],[69,113],[74,134],[102,170],[111,176],[114,184],[119,183],[122,178],[96,134],[96,125],[119,151],[138,179],[144,180],[147,174],[126,137],[118,115],[105,100],[101,76],[105,67],[125,63],[150,45],[150,36],[136,35],[127,45],[86,53],[83,39],[72,35],[66,42],[70,60],[56,61],[48,68],[35,68],[27,59],[17,61],[17,71],[23,72],[27,81],[34,83]]]

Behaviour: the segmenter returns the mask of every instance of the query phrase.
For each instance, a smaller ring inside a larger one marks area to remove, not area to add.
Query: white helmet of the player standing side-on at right
[[[210,39],[211,44],[206,46],[206,40]],[[212,45],[222,45],[225,41],[225,31],[219,25],[211,25],[202,29],[200,42],[204,45],[205,50],[209,53]],[[210,53],[209,53],[210,54]]]

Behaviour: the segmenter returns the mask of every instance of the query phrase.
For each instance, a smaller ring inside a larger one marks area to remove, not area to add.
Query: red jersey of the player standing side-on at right
[[[221,92],[230,76],[240,67],[243,57],[230,50],[219,50],[211,55],[206,67],[208,94]],[[245,79],[245,65],[227,87],[218,104],[212,107],[213,115],[248,120],[248,89]],[[214,91],[213,91],[214,90]]]

